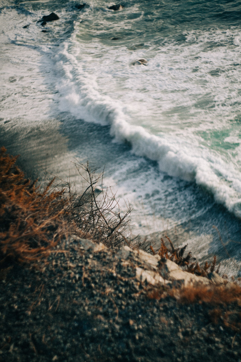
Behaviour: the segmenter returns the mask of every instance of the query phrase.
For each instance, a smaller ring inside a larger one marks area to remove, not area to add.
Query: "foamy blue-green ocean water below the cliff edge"
[[[79,4],[0,0],[1,145],[77,189],[104,169],[132,235],[240,277],[241,1]]]

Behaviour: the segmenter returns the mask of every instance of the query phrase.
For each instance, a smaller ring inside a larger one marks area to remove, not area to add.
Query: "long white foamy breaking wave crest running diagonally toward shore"
[[[170,176],[195,181],[214,195],[217,202],[241,217],[241,174],[234,165],[205,146],[172,135],[152,135],[143,127],[131,124],[125,106],[118,100],[100,94],[95,75],[83,69],[65,43],[55,56],[57,89],[61,111],[76,118],[110,125],[116,142],[128,142],[138,156],[155,160],[161,171]]]

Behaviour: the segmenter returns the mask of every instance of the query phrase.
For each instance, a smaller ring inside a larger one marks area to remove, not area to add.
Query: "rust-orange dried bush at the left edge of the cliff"
[[[46,255],[65,235],[64,189],[44,191],[26,179],[17,157],[0,151],[0,269]]]

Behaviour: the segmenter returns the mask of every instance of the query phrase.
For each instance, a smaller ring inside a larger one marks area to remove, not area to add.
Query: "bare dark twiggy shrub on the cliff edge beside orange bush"
[[[121,215],[116,195],[111,188],[103,186],[103,172],[98,174],[98,169],[89,163],[76,163],[76,167],[88,185],[81,195],[73,198],[72,217],[78,228],[85,230],[92,235],[93,240],[101,241],[107,247],[129,245],[130,205],[126,204],[127,211]],[[85,171],[85,176],[81,171]]]

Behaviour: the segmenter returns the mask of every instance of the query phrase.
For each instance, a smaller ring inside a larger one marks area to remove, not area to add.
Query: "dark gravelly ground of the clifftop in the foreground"
[[[215,324],[241,306],[150,299],[138,265],[72,237],[43,268],[14,266],[0,280],[0,361],[241,362],[240,331]]]

